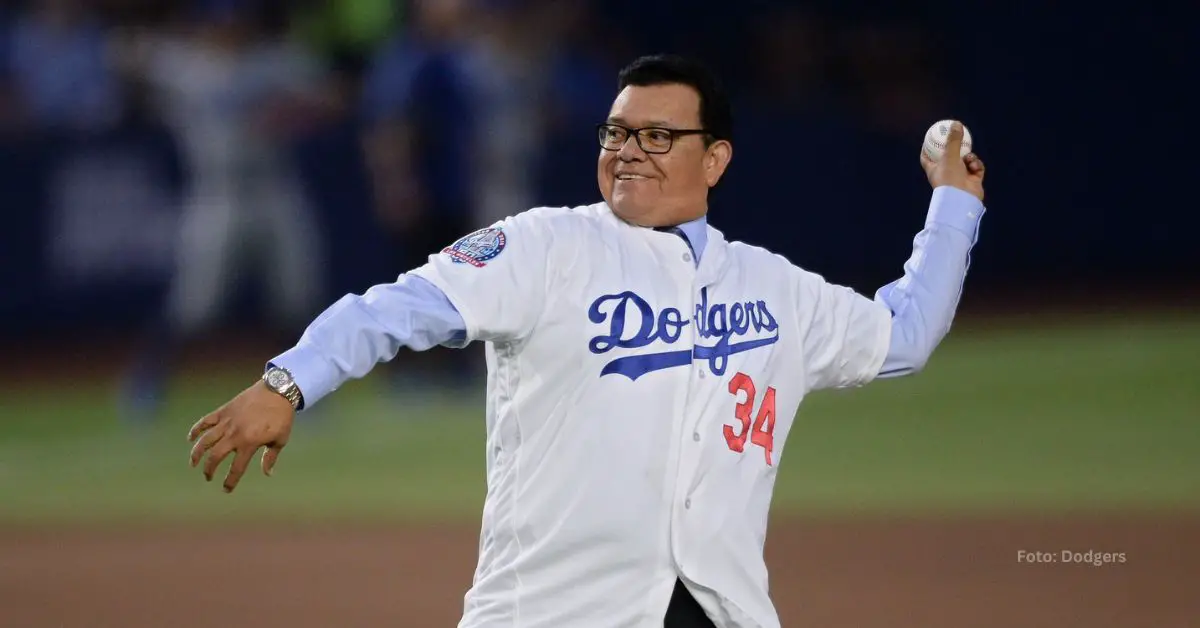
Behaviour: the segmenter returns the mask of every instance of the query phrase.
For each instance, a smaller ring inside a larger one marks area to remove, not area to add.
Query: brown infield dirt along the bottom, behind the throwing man
[[[449,627],[475,549],[475,530],[445,526],[0,530],[0,624]],[[1063,550],[1126,562],[1064,564]],[[1200,516],[776,520],[768,560],[786,627],[1200,621]]]

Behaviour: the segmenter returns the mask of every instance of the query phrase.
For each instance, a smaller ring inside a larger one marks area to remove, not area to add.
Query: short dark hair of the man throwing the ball
[[[733,110],[716,74],[700,61],[674,54],[641,56],[620,71],[617,91],[629,85],[688,85],[700,94],[700,124],[708,131],[706,144],[733,139]]]

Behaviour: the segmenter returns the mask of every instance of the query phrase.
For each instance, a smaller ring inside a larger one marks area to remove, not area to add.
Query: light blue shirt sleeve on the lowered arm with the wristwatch
[[[292,372],[304,407],[391,360],[401,347],[466,345],[467,324],[446,295],[415,275],[347,294],[318,316],[295,347],[270,364]]]

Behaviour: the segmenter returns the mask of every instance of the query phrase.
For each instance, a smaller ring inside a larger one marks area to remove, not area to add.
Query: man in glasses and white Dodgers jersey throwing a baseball
[[[602,203],[522,213],[343,298],[192,427],[192,463],[208,453],[211,480],[234,454],[233,490],[259,447],[270,473],[294,408],[401,345],[485,341],[488,491],[460,626],[779,626],[762,549],[800,399],[922,369],[984,166],[923,160],[925,229],[871,300],[706,223],[731,128],[703,67],[638,59],[599,126]]]

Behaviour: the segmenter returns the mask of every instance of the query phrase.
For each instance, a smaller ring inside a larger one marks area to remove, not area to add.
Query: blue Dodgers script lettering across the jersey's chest
[[[692,318],[685,319],[679,310],[665,307],[655,311],[637,293],[626,291],[605,294],[592,301],[588,319],[608,323],[608,333],[588,342],[592,353],[607,353],[614,348],[640,348],[662,342],[674,345],[684,328],[696,325],[697,341],[691,349],[642,353],[617,358],[604,366],[600,376],[624,375],[630,379],[664,369],[685,366],[692,360],[708,361],[713,375],[725,375],[730,355],[774,345],[779,341],[779,323],[766,301],[716,303],[709,305],[708,288],[702,288]],[[746,337],[750,334],[757,337]],[[701,340],[708,341],[701,345]]]

